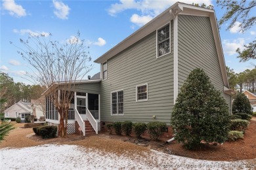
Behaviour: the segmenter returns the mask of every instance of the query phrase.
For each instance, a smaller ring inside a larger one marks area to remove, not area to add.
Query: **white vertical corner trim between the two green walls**
[[[178,15],[173,19],[173,102],[178,96]]]

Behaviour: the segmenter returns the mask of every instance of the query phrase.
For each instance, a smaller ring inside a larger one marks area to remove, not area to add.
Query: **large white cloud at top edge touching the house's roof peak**
[[[140,14],[133,14],[133,16],[131,16],[131,22],[142,26],[146,24],[146,21],[148,22],[149,20],[152,20],[152,18],[163,12],[163,10],[171,7],[171,5],[176,2],[177,0],[166,0],[161,2],[156,0],[120,0],[118,3],[111,5],[110,9],[108,9],[108,14],[116,16],[116,14],[123,12],[124,10],[139,10]],[[205,5],[211,5],[211,0],[181,0],[180,2],[188,4],[192,4],[192,2],[199,4],[205,3]],[[142,21],[140,22],[139,19],[142,19]]]

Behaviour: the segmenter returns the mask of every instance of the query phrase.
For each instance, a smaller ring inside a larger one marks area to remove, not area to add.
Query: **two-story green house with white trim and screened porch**
[[[165,122],[190,71],[199,67],[222,92],[231,112],[231,93],[215,11],[175,3],[148,24],[95,60],[101,71],[75,83],[69,104],[68,133],[106,129],[108,122]],[[51,86],[57,88],[59,85]],[[47,99],[46,120],[59,124]],[[48,97],[47,97],[48,96]],[[167,129],[166,129],[167,131]],[[171,137],[171,128],[165,136]]]

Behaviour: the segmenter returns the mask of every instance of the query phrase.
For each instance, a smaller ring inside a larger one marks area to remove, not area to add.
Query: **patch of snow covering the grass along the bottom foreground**
[[[236,169],[234,166],[242,163],[194,160],[156,150],[145,156],[136,153],[134,156],[118,156],[68,144],[0,150],[0,169]]]

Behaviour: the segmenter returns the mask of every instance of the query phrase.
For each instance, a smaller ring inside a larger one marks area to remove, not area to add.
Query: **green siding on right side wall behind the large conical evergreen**
[[[211,22],[209,17],[186,16],[178,17],[178,87],[181,86],[196,67],[202,68],[210,77],[215,88],[223,93],[230,107],[230,97],[224,95],[223,76]]]

